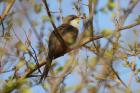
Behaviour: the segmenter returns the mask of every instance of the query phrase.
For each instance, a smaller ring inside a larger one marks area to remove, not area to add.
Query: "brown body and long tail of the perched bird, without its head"
[[[72,45],[71,41],[76,41],[77,35],[78,35],[78,29],[74,28],[71,25],[63,24],[57,28],[57,31],[62,36],[65,43],[70,46]],[[52,32],[49,37],[49,45],[48,45],[48,56],[46,58],[46,65],[43,71],[43,75],[41,76],[40,82],[45,79],[48,75],[48,72],[51,68],[52,60],[63,56],[67,51],[63,48],[61,42],[58,40],[58,38],[55,36],[55,34]]]

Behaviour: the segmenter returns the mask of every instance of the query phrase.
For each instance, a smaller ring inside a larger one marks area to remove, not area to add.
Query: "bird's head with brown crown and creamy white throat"
[[[80,17],[80,16],[69,15],[69,16],[64,18],[63,23],[64,24],[69,24],[69,25],[72,25],[73,27],[78,28],[79,27],[79,22],[80,22],[81,19],[82,19],[82,17]]]

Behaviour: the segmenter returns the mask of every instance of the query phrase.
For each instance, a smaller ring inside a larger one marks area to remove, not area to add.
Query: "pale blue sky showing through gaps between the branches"
[[[38,0],[36,0],[37,2],[38,2]],[[70,15],[70,14],[76,14],[76,11],[73,9],[73,6],[72,6],[72,2],[71,2],[72,0],[62,0],[62,5],[61,5],[61,7],[62,7],[62,14],[64,15],[64,16],[67,16],[67,15]],[[73,0],[73,1],[75,1],[75,0]],[[107,1],[108,0],[100,0],[100,2],[99,2],[99,5],[98,5],[98,8],[97,9],[100,9],[100,8],[102,8],[102,7],[104,7],[106,4],[107,4]],[[124,8],[126,8],[127,7],[127,4],[128,4],[128,2],[127,2],[128,0],[121,0],[121,6],[122,7],[124,7]],[[48,3],[49,3],[49,8],[50,8],[50,10],[52,10],[52,11],[57,11],[58,10],[58,7],[59,7],[59,5],[58,5],[58,3],[57,3],[57,0],[48,0]],[[84,4],[86,4],[87,3],[87,0],[83,0],[83,2],[82,3],[84,3]],[[140,5],[140,4],[139,4]],[[84,13],[86,13],[86,14],[88,14],[88,9],[87,9],[87,7],[83,7],[83,12]],[[1,9],[0,9],[0,13],[1,13]],[[46,11],[45,10],[43,10],[44,12],[43,12],[43,14],[41,14],[41,15],[46,15]],[[130,15],[130,17],[127,19],[128,21],[126,21],[126,23],[125,23],[125,25],[127,25],[127,24],[130,24],[130,23],[132,23],[134,20],[135,20],[135,18],[137,17],[137,15],[140,15],[140,13],[138,14],[138,12],[137,11],[139,11],[139,9],[137,8],[137,9],[135,9],[135,11],[134,11],[134,15]],[[136,13],[135,13],[136,12]],[[137,15],[136,15],[137,14]],[[33,14],[34,15],[34,14]],[[41,16],[40,15],[40,16]],[[32,19],[37,19],[38,18],[38,15],[37,16],[30,16]],[[105,29],[105,28],[109,28],[109,29],[114,29],[115,27],[114,27],[114,24],[112,23],[112,14],[111,13],[107,13],[107,14],[105,14],[105,13],[101,13],[101,12],[99,12],[96,16],[95,16],[95,18],[98,20],[98,25],[100,26],[99,28],[100,28],[100,31],[101,30],[103,30],[103,29]],[[96,21],[94,21],[94,26],[95,26],[95,29],[98,29],[97,27],[96,27]],[[50,23],[46,23],[45,24],[46,25],[46,29],[49,29],[50,27],[52,27],[51,26],[51,24]],[[59,26],[60,25],[60,23],[59,22],[56,22],[56,25],[57,26]],[[46,33],[46,36],[47,36],[47,34],[48,33],[50,33],[51,31],[47,31],[47,33]],[[131,39],[130,39],[130,37],[129,37],[129,35],[126,35],[126,34],[130,34],[130,35],[132,35],[132,33],[128,33],[127,31],[126,32],[123,32],[122,33],[122,35],[124,36],[124,38],[122,38],[122,39],[128,39],[128,40],[130,40],[130,43],[131,43]],[[22,34],[21,34],[22,35]],[[35,37],[34,37],[35,38]],[[34,38],[33,38],[33,40],[34,40]],[[47,39],[48,37],[46,37],[46,39]],[[101,39],[101,41],[102,41],[102,44],[104,45],[105,44],[105,42],[107,42],[106,40],[104,40],[104,39]],[[33,45],[35,45],[36,44],[36,41],[35,42],[32,42],[33,43]],[[90,53],[90,52],[86,52],[86,55],[92,55],[92,53]],[[79,56],[80,57],[83,57],[83,58],[85,58],[86,56],[85,56],[85,51],[83,52],[82,50],[80,51],[80,54],[79,54]],[[60,58],[58,58],[58,59],[56,59],[55,61],[59,61],[59,64],[61,65],[61,66],[63,66],[63,64],[64,64],[64,62],[66,61],[68,59],[68,55],[66,54],[66,55],[64,55],[63,57],[60,57]],[[130,58],[129,60],[137,60],[137,58]],[[121,65],[122,66],[122,65]],[[140,65],[139,65],[140,66]],[[121,74],[123,74],[123,72],[128,72],[128,73],[126,73],[125,75],[121,75],[122,77],[122,79],[125,81],[125,82],[127,82],[128,81],[128,78],[127,77],[130,77],[129,75],[129,70],[127,70],[126,71],[126,69],[125,68],[123,68],[123,66],[122,66],[122,69],[120,69],[119,70],[119,72],[121,72]],[[3,77],[3,78],[5,78],[5,77]],[[70,75],[68,75],[68,77],[67,77],[67,79],[65,80],[65,84],[67,84],[68,86],[74,86],[75,84],[78,84],[79,82],[80,82],[80,77],[78,77],[78,75],[77,75],[77,73],[76,72],[74,72],[74,73],[72,73],[72,74],[70,74]],[[73,83],[74,82],[74,83]],[[137,84],[136,84],[137,85]],[[137,85],[138,86],[138,85]],[[132,86],[133,87],[133,86]],[[137,88],[137,87],[133,87],[134,89],[135,88]],[[44,89],[40,86],[40,85],[36,85],[36,86],[34,86],[32,89],[32,92],[33,93],[46,93],[46,91],[44,91]],[[68,93],[72,93],[72,92],[68,92]],[[85,92],[85,90],[83,91],[83,93],[86,93]]]

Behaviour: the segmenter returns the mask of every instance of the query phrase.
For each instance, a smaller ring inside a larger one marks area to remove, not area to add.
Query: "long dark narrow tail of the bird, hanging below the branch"
[[[45,68],[44,68],[44,71],[43,71],[43,74],[42,74],[42,76],[41,76],[41,78],[40,78],[39,83],[41,83],[42,80],[44,80],[44,79],[48,76],[49,70],[50,70],[50,68],[51,68],[52,59],[51,59],[50,57],[47,57],[47,58],[46,58],[46,61],[47,61],[47,63],[46,63],[46,65],[45,65]]]

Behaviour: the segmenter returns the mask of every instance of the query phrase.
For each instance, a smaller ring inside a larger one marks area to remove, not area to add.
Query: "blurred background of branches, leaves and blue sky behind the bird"
[[[54,29],[42,1],[0,0],[0,93],[140,92],[139,0],[47,0],[56,27],[81,15],[79,42],[102,38],[53,60],[39,84]]]

